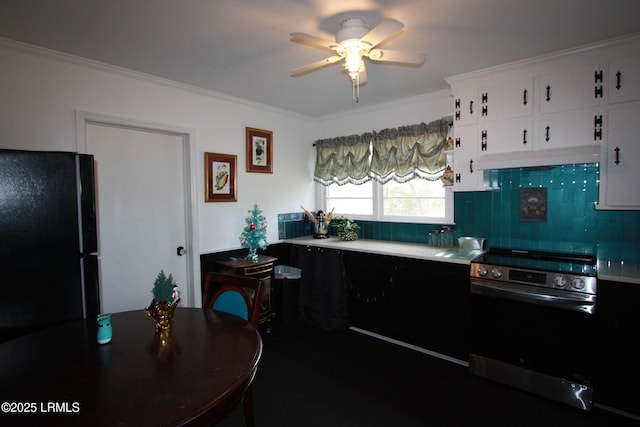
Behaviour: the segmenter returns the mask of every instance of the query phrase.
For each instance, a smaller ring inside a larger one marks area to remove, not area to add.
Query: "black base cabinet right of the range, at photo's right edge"
[[[640,418],[640,285],[598,282],[593,400]]]

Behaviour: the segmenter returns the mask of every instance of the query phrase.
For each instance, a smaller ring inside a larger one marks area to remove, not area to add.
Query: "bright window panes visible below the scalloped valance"
[[[318,185],[325,210],[373,221],[453,222],[453,193],[440,180]]]

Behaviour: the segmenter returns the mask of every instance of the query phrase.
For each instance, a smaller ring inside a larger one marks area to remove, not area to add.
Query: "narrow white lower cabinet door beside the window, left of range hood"
[[[483,174],[478,170],[478,127],[456,127],[454,141],[453,190],[483,190]]]

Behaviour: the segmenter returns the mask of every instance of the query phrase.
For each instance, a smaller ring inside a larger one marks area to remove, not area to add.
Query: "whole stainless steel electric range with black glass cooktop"
[[[492,248],[471,262],[469,370],[592,409],[596,258]]]

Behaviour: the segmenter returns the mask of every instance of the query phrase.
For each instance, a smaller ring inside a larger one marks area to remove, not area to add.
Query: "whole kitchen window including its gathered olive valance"
[[[450,164],[450,125],[441,119],[317,140],[320,204],[358,219],[451,224],[453,194],[439,179]]]

